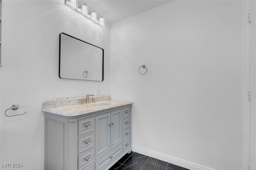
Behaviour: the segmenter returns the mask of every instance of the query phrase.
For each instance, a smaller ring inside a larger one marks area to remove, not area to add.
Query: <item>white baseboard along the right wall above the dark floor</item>
[[[174,158],[174,157],[166,155],[166,154],[161,154],[159,152],[154,152],[152,150],[140,148],[140,147],[134,146],[134,145],[132,145],[132,151],[137,152],[139,154],[144,154],[146,156],[150,156],[152,158],[156,158],[156,159],[159,159],[159,160],[162,160],[165,162],[169,162],[171,164],[175,164],[175,165],[178,165],[178,166],[190,169],[190,170],[215,170],[212,168],[208,168],[206,166],[195,164],[193,162],[189,162],[189,161],[182,160],[179,158]]]

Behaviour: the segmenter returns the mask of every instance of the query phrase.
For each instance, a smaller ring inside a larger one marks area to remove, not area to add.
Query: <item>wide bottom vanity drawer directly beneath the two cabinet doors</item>
[[[95,162],[95,169],[96,170],[104,170],[108,164],[115,158],[118,158],[120,154],[123,152],[123,146],[122,144],[119,145],[117,148],[112,150],[110,153],[106,154],[102,158],[100,158],[98,161]]]

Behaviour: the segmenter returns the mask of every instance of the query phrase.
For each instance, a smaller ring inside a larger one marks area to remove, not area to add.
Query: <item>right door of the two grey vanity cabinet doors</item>
[[[122,109],[111,112],[111,148],[122,142]]]

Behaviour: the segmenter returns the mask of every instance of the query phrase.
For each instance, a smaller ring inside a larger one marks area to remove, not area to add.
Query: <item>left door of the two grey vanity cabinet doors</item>
[[[110,150],[110,112],[95,117],[95,159]]]

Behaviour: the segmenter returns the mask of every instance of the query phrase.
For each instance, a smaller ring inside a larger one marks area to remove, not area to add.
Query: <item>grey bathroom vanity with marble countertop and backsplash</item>
[[[46,170],[108,170],[131,151],[132,102],[110,96],[82,100],[44,101]]]

